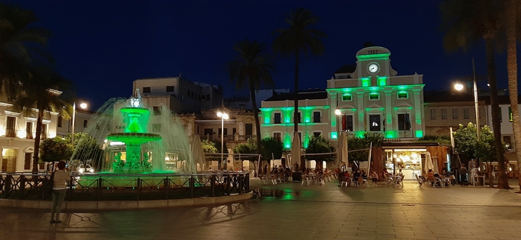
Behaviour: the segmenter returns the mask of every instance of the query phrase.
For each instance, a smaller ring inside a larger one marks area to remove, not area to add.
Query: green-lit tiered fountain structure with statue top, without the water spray
[[[116,156],[113,162],[113,172],[151,172],[152,165],[148,162],[148,154],[141,160],[141,145],[146,142],[161,140],[161,135],[146,132],[150,110],[143,108],[139,98],[131,98],[131,107],[121,108],[123,122],[126,124],[123,132],[113,132],[106,136],[107,140],[123,142],[126,149],[126,162]]]

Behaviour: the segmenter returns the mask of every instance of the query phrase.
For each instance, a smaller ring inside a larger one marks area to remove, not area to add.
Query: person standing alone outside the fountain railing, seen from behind
[[[58,170],[54,172],[53,181],[53,207],[51,209],[51,224],[59,224],[61,221],[61,203],[64,202],[65,193],[67,191],[66,181],[71,181],[71,175],[69,169],[65,168],[66,164],[64,161],[58,162]]]

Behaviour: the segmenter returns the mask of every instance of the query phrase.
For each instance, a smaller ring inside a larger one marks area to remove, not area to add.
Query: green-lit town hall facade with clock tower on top
[[[339,131],[360,137],[380,132],[389,139],[425,135],[423,75],[398,75],[390,54],[379,46],[363,48],[355,65],[343,66],[328,80],[331,139]]]

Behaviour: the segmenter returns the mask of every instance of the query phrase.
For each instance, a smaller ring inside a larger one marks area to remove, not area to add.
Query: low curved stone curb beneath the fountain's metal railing
[[[251,199],[253,192],[234,194],[222,197],[199,197],[193,199],[168,199],[148,201],[73,201],[64,202],[63,210],[125,210],[151,209],[160,207],[192,207],[214,204],[227,204]],[[51,209],[51,201],[0,199],[0,207],[16,207],[24,209]]]

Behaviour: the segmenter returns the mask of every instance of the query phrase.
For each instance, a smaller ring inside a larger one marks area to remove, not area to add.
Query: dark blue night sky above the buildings
[[[224,65],[245,38],[271,46],[285,14],[310,9],[328,34],[325,54],[301,61],[300,89],[325,88],[326,80],[371,41],[391,51],[398,75],[424,75],[426,89],[486,74],[484,44],[468,53],[445,53],[439,30],[440,1],[7,1],[36,12],[48,28],[49,51],[58,71],[74,81],[76,95],[100,106],[128,97],[137,78],[183,73],[188,80],[221,84],[225,95],[244,94],[229,85]],[[271,48],[269,48],[271,53]],[[293,88],[294,58],[274,58],[277,88]],[[506,88],[505,54],[497,55],[500,88]],[[485,83],[481,85],[485,86]]]

